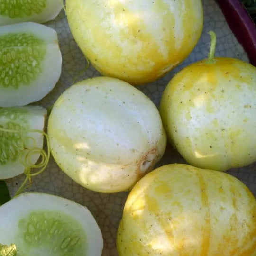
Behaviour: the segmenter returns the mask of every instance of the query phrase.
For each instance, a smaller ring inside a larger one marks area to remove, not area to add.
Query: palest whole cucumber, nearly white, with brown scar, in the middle
[[[130,189],[165,152],[155,104],[127,82],[93,77],[68,88],[48,120],[51,153],[75,182],[96,192]]]

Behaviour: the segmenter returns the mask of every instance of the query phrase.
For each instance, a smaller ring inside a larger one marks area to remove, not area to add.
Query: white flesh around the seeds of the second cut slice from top
[[[34,22],[0,27],[0,36],[14,33],[33,33],[46,43],[46,54],[41,60],[42,72],[30,85],[20,83],[15,89],[0,85],[0,107],[25,106],[41,100],[55,87],[61,75],[62,54],[53,28]]]

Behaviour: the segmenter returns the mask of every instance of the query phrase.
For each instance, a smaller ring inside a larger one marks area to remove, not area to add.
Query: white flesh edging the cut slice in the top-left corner
[[[30,16],[10,18],[9,16],[0,15],[0,26],[21,23],[21,22],[37,22],[45,23],[55,19],[63,8],[60,0],[46,0],[46,7],[40,13],[33,13]]]

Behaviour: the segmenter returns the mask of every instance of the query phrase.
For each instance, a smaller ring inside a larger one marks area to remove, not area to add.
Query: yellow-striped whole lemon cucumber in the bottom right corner
[[[161,166],[126,200],[119,256],[256,256],[256,199],[232,175]]]

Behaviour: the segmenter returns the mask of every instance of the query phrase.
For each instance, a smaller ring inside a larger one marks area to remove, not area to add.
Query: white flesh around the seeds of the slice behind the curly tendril
[[[22,120],[11,120],[7,119],[6,117],[0,116],[0,125],[3,125],[8,121],[13,121],[18,123],[20,126],[24,126],[27,129],[37,129],[43,131],[45,128],[45,119],[47,115],[47,110],[40,106],[25,106],[25,107],[18,107],[20,110],[27,110],[25,114],[25,118],[27,120],[26,123],[23,123]],[[43,148],[44,144],[44,137],[43,134],[32,132],[27,133],[28,137],[33,137],[36,141],[36,145],[32,145],[32,141],[30,141],[29,147],[38,147]],[[35,164],[39,158],[39,154],[32,155],[30,158],[31,163]],[[25,170],[24,165],[20,163],[20,160],[17,159],[15,162],[9,162],[5,165],[0,164],[0,179],[9,179],[15,177],[19,174],[22,174]]]

